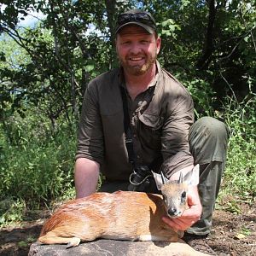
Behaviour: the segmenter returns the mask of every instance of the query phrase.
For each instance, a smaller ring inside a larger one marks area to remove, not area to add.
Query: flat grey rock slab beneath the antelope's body
[[[203,256],[182,240],[166,241],[115,241],[100,239],[80,243],[78,247],[66,248],[66,245],[42,245],[38,242],[30,247],[28,256]]]

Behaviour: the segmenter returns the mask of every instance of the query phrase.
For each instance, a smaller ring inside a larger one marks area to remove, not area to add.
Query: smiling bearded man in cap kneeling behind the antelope
[[[77,198],[96,191],[100,172],[106,177],[100,190],[113,192],[128,189],[137,166],[159,172],[165,161],[166,177],[177,179],[180,172],[200,164],[200,184],[189,191],[189,209],[180,218],[163,219],[177,230],[207,235],[224,171],[228,129],[210,117],[193,124],[189,92],[156,60],[160,43],[152,15],[137,9],[119,15],[120,68],[93,79],[84,94],[75,163]],[[131,138],[125,143],[126,106],[133,150],[127,143]]]

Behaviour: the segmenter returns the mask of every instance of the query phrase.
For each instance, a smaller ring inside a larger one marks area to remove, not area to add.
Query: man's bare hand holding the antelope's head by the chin
[[[187,230],[201,218],[202,207],[197,187],[193,187],[189,190],[188,205],[189,209],[185,210],[181,217],[163,217],[163,221],[174,230]]]

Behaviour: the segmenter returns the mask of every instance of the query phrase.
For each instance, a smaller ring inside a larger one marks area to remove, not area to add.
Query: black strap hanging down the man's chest
[[[123,111],[124,111],[124,126],[125,126],[125,146],[127,148],[129,162],[133,165],[136,165],[136,155],[133,149],[133,141],[132,141],[132,133],[131,133],[131,125],[130,125],[130,114],[128,110],[128,102],[127,96],[125,92],[125,88],[120,86],[121,96],[123,100]]]

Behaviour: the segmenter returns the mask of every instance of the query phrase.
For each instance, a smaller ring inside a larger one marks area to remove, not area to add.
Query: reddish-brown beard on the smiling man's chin
[[[119,58],[119,62],[121,64],[121,66],[124,68],[125,72],[126,73],[129,73],[131,75],[134,75],[134,76],[140,76],[144,73],[147,73],[148,70],[153,67],[154,65],[154,62],[156,61],[156,57],[157,57],[157,54],[156,52],[152,55],[149,55],[148,56],[148,59],[146,59],[147,61],[143,64],[143,65],[131,65],[128,63],[128,58],[126,59],[122,59],[122,58]]]

